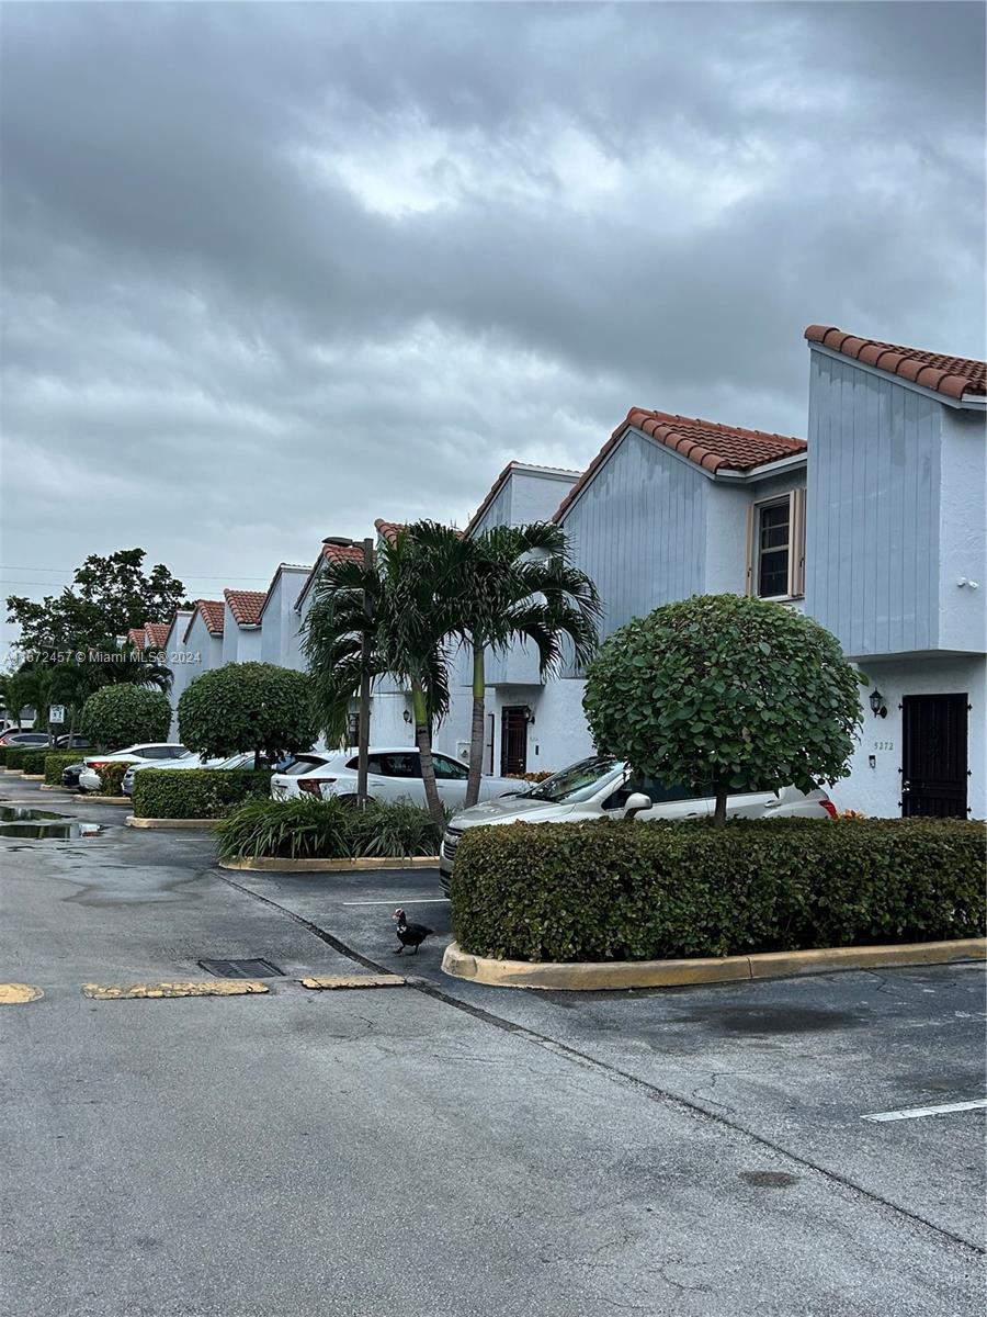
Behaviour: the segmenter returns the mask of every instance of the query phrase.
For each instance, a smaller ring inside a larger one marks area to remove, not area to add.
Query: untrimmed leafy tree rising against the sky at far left
[[[91,553],[61,594],[41,603],[8,595],[7,620],[21,628],[21,648],[105,648],[132,627],[170,618],[186,602],[184,586],[161,562],[145,572],[145,557],[143,549]]]

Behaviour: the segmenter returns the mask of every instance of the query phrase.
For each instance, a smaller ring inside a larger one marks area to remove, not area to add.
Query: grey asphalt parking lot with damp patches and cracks
[[[3,843],[14,1317],[979,1313],[980,965],[642,993],[450,980],[429,871]],[[396,956],[391,914],[436,930]],[[87,1001],[265,956],[265,997]],[[357,957],[357,959],[354,959]],[[307,993],[384,967],[411,986]]]

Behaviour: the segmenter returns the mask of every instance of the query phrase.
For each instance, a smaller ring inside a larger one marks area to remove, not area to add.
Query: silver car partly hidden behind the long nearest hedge
[[[636,777],[620,760],[594,755],[525,789],[512,799],[487,801],[457,814],[438,852],[442,888],[449,892],[459,839],[470,827],[495,823],[582,823],[599,818],[697,819],[713,813],[716,801],[683,786],[665,786]],[[805,794],[796,786],[729,795],[732,818],[836,818],[837,809],[821,789]]]

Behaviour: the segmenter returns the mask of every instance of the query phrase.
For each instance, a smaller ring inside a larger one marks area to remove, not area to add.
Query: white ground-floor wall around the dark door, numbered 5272
[[[832,788],[840,809],[861,810],[880,818],[901,814],[901,703],[903,695],[967,694],[967,805],[973,818],[987,818],[987,660],[983,656],[916,657],[901,662],[871,660],[861,686],[863,728],[851,761],[850,777]],[[867,695],[880,690],[887,718],[871,712]],[[869,756],[874,756],[874,768]]]

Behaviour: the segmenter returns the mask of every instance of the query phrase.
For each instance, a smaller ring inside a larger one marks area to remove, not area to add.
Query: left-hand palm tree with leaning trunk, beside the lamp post
[[[436,824],[445,827],[432,727],[449,710],[449,656],[434,593],[417,568],[407,531],[382,540],[372,568],[326,564],[304,623],[303,651],[328,741],[342,741],[365,673],[371,681],[390,676],[408,684],[425,799]]]

